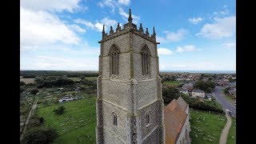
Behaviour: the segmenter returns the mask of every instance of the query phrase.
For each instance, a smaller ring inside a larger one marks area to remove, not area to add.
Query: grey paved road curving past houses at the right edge
[[[228,102],[226,98],[224,98],[224,94],[222,93],[222,90],[225,87],[222,86],[215,86],[214,89],[214,97],[217,99],[217,101],[223,106],[224,109],[230,110],[234,115],[236,115],[236,106],[234,106],[233,103]]]

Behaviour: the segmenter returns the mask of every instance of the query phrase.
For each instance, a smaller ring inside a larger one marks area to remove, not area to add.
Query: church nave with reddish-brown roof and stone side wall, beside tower
[[[189,105],[182,97],[173,99],[164,110],[166,144],[190,143]]]

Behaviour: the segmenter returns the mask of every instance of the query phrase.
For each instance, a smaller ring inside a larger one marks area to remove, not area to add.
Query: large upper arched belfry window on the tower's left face
[[[110,48],[110,74],[119,74],[119,54],[120,50],[117,46],[113,45]]]

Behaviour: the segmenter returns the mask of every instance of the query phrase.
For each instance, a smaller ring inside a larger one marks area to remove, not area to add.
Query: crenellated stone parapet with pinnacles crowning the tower
[[[153,27],[153,34],[150,34],[148,31],[148,28],[146,28],[146,31],[144,33],[143,27],[142,27],[142,23],[140,23],[139,28],[137,29],[137,26],[132,23],[132,16],[131,16],[131,12],[129,11],[129,18],[128,18],[128,22],[122,26],[120,26],[120,24],[118,23],[117,28],[115,29],[115,31],[113,30],[113,27],[110,26],[110,33],[105,33],[105,27],[103,26],[103,30],[102,30],[102,41],[101,42],[105,42],[108,41],[112,38],[116,38],[122,34],[127,34],[129,32],[132,32],[134,34],[137,34],[139,36],[141,36],[142,38],[146,38],[147,40],[149,40],[150,42],[156,42],[156,34],[155,34],[155,30]]]

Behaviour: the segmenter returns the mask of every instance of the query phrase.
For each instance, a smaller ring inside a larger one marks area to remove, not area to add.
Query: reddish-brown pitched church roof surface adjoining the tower
[[[184,100],[180,97],[173,99],[164,111],[164,123],[166,130],[166,144],[176,143],[178,135],[182,130],[182,126],[186,121],[187,114],[184,110]],[[185,102],[186,103],[186,102]]]

